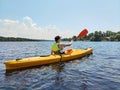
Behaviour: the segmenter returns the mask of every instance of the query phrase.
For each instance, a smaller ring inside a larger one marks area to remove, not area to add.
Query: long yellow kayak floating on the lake
[[[91,54],[92,48],[87,49],[72,49],[71,54],[60,55],[49,55],[49,56],[38,56],[30,58],[22,58],[16,60],[5,61],[6,70],[23,69],[33,66],[45,65],[50,63],[56,63],[61,61],[69,61],[77,58],[84,57]]]

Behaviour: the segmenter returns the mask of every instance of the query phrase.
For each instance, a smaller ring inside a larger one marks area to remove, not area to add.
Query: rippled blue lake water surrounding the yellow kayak
[[[47,55],[53,42],[0,42],[0,90],[120,90],[120,42],[75,42],[93,55],[6,72],[4,61]]]

